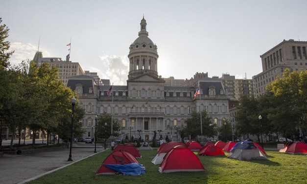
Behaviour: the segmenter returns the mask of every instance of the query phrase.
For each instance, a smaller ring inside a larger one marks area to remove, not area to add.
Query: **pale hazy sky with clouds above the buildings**
[[[15,50],[10,62],[71,60],[114,85],[126,85],[129,46],[144,14],[158,46],[158,74],[190,79],[196,72],[248,79],[260,55],[285,40],[307,41],[306,0],[0,0],[0,17]]]

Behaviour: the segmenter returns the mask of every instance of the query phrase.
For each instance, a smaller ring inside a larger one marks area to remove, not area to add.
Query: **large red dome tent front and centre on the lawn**
[[[161,173],[205,171],[205,168],[188,148],[174,148],[165,155],[159,171]]]

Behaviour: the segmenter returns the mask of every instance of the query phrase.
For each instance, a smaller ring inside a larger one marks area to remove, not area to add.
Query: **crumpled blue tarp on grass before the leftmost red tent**
[[[127,175],[141,175],[145,174],[145,167],[140,163],[129,163],[129,164],[103,164],[104,166],[112,169],[116,172],[120,172]]]

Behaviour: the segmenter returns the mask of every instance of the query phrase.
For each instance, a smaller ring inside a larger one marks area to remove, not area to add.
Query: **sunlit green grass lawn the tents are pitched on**
[[[161,174],[150,161],[157,150],[141,151],[146,168],[140,176],[95,173],[110,150],[79,161],[27,184],[307,184],[307,157],[267,151],[268,161],[238,161],[225,156],[198,156],[205,172]],[[180,161],[180,160],[179,160]]]

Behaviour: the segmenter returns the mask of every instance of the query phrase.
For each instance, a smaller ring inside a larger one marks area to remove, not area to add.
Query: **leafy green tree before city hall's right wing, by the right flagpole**
[[[196,136],[201,134],[200,130],[200,113],[196,111],[191,112],[191,117],[185,120],[187,127],[182,129],[181,135],[184,137],[196,138]],[[208,116],[207,112],[204,110],[202,112],[202,127],[203,134],[208,137],[213,137],[215,135],[214,124],[212,123],[212,117]]]

